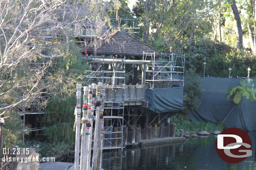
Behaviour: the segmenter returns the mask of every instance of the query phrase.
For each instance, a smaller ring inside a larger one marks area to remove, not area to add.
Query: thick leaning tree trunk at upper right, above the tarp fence
[[[239,15],[238,8],[236,6],[235,0],[231,2],[231,8],[234,14],[234,19],[236,21],[236,39],[237,39],[237,46],[240,50],[243,49],[243,30],[241,25],[241,19]]]

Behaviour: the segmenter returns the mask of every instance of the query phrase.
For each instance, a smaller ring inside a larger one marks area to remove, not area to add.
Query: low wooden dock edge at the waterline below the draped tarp
[[[152,138],[150,140],[141,140],[138,142],[140,147],[162,145],[162,144],[173,144],[185,142],[185,137],[164,137],[164,138]]]

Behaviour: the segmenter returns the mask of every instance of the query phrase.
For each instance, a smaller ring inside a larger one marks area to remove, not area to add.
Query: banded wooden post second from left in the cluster
[[[89,87],[84,86],[84,104],[83,104],[83,118],[81,119],[82,129],[81,129],[81,158],[80,158],[80,170],[84,170],[86,166],[86,150],[88,149],[88,141],[86,141],[86,123],[88,122],[87,117],[87,97],[88,97]],[[86,147],[87,146],[87,147]]]

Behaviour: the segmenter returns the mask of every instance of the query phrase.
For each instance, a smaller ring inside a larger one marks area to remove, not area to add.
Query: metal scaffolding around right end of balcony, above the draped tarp
[[[145,79],[149,89],[154,88],[159,82],[170,82],[171,85],[173,82],[180,82],[179,86],[184,86],[185,54],[161,53],[161,56],[157,57],[155,52],[143,52],[143,60],[151,60],[146,68]]]

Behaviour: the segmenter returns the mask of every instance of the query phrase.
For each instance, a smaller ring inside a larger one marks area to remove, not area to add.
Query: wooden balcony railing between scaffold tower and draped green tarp
[[[145,85],[117,85],[106,87],[106,101],[144,100]]]

